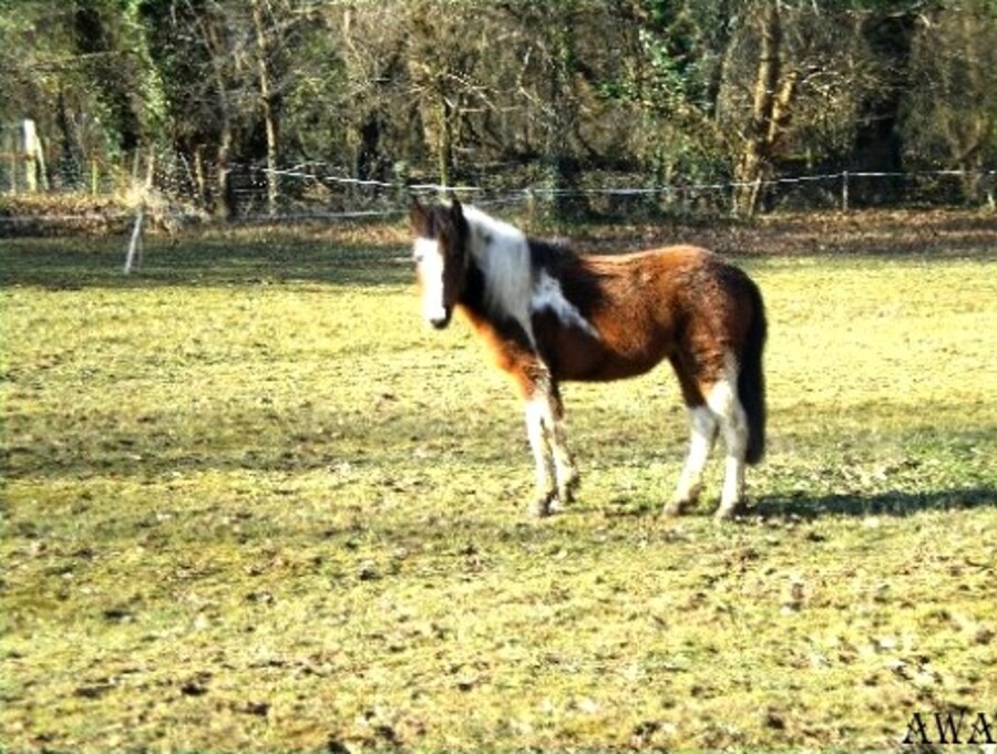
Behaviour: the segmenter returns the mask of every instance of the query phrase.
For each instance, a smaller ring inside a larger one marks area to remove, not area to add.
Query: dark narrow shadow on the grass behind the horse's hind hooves
[[[997,508],[997,487],[975,486],[926,492],[895,489],[872,495],[768,495],[746,512],[748,517],[812,520],[825,516],[895,516],[941,510]]]

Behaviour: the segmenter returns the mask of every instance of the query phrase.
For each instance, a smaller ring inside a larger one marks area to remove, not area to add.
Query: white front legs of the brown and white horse
[[[564,405],[549,379],[538,381],[526,400],[526,434],[536,463],[532,513],[547,516],[571,503],[578,485],[578,471],[567,447]]]

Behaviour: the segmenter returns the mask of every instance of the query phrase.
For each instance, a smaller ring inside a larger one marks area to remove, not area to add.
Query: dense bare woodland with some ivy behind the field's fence
[[[413,183],[993,207],[994,71],[994,0],[0,0],[0,123],[35,121],[49,190],[214,217]]]

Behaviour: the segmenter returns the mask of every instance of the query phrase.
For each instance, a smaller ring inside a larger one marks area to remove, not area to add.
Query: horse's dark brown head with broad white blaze
[[[414,202],[409,215],[415,233],[413,259],[422,290],[422,313],[436,329],[450,323],[467,272],[467,221],[460,202],[424,207]]]

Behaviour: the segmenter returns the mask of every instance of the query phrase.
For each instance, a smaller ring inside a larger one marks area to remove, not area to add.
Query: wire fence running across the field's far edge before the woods
[[[674,177],[650,182],[638,173],[592,171],[569,186],[552,187],[531,166],[483,164],[463,180],[441,185],[407,175],[356,178],[341,165],[307,162],[268,169],[259,164],[202,165],[187,155],[136,156],[130,165],[64,159],[51,166],[45,190],[28,194],[24,166],[0,164],[0,235],[49,228],[130,226],[142,209],[160,225],[226,223],[337,223],[402,216],[413,195],[453,195],[486,207],[543,213],[558,210],[613,218],[712,217],[731,215],[733,180]],[[219,179],[225,173],[224,184]],[[35,182],[38,185],[38,182]],[[218,196],[224,185],[225,196]],[[995,205],[995,171],[849,172],[773,176],[751,185],[758,209],[849,210],[859,207],[989,207]],[[32,202],[37,197],[41,199]],[[17,200],[20,199],[20,200]],[[7,205],[4,207],[4,205]],[[224,206],[224,211],[219,208]]]

